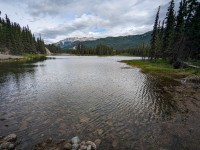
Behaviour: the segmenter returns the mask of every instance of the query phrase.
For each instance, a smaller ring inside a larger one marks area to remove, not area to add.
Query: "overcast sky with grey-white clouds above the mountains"
[[[67,37],[107,37],[152,30],[158,6],[170,0],[0,0],[2,15],[39,33],[46,43]],[[179,0],[175,0],[176,9]]]

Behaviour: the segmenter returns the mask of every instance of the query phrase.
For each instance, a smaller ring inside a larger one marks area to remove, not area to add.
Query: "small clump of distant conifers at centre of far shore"
[[[75,49],[70,50],[70,53],[76,55],[113,55],[114,51],[108,45],[98,44],[95,47],[88,47],[79,43]]]

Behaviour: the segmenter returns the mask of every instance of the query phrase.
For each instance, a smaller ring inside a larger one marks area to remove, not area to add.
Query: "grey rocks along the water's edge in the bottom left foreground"
[[[79,137],[73,137],[71,140],[61,140],[54,142],[52,138],[35,146],[35,150],[97,150],[101,143],[100,139],[92,141],[81,141]],[[0,150],[17,150],[17,135],[10,134],[5,137],[0,136]]]

